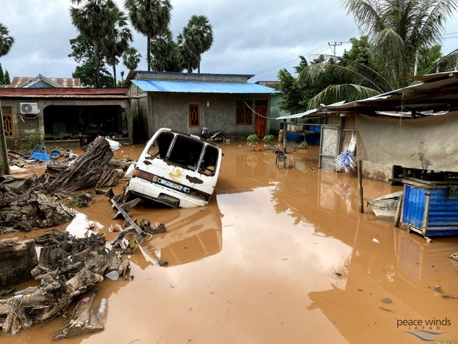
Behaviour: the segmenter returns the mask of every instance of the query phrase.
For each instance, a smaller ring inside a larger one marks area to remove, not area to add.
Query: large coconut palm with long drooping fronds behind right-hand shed
[[[330,85],[309,102],[309,107],[340,100],[355,100],[409,85],[419,54],[440,44],[448,17],[458,0],[342,0],[354,16],[362,35],[369,37],[370,63],[340,59],[334,66],[309,66],[306,80],[330,68],[340,76],[340,85]],[[325,98],[326,96],[326,98]]]

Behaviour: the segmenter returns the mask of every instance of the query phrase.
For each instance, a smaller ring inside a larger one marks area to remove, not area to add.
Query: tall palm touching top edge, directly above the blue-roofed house
[[[173,6],[170,0],[125,0],[132,26],[147,36],[147,63],[151,70],[151,39],[161,35],[170,24]]]

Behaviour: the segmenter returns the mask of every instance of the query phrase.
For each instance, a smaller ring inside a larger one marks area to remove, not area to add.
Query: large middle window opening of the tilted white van
[[[203,149],[204,142],[177,135],[168,155],[168,161],[195,170]]]

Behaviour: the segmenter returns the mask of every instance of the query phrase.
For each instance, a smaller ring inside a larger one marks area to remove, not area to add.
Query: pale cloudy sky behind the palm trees
[[[123,0],[116,0],[123,8]],[[171,0],[174,38],[193,14],[209,18],[213,46],[202,56],[201,73],[255,75],[249,80],[276,80],[280,68],[297,66],[298,56],[340,55],[359,37],[352,17],[339,0]],[[68,57],[69,40],[78,35],[70,20],[70,0],[1,0],[0,23],[16,39],[0,59],[10,77],[38,74],[71,77],[77,64]],[[458,48],[458,14],[442,41],[442,53]],[[142,54],[139,70],[147,70],[146,38],[132,29],[132,45]],[[333,43],[339,45],[334,46]],[[340,42],[342,44],[340,45]],[[118,73],[128,70],[120,63]],[[118,78],[120,78],[118,76]]]

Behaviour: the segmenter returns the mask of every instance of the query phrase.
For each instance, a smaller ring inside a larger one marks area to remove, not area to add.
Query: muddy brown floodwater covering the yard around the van
[[[116,156],[137,159],[141,150],[122,147]],[[132,281],[100,283],[97,298],[109,300],[105,330],[66,343],[457,340],[458,298],[442,296],[458,295],[449,259],[458,238],[427,242],[377,220],[366,205],[359,214],[357,178],[318,169],[317,147],[288,154],[290,168],[277,168],[272,151],[255,152],[245,142],[223,152],[208,207],[130,211],[168,231],[130,256]],[[363,185],[364,204],[400,190],[366,179]],[[110,209],[97,195],[68,230],[84,233],[90,222],[113,240],[109,226],[122,221],[113,221]],[[169,265],[155,264],[158,258]],[[54,319],[0,340],[50,343],[65,324]]]

